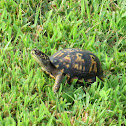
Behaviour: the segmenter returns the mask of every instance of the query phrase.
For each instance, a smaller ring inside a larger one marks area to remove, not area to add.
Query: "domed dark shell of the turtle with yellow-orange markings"
[[[52,64],[70,78],[96,81],[96,76],[103,80],[103,70],[96,55],[76,48],[63,49],[50,56]]]

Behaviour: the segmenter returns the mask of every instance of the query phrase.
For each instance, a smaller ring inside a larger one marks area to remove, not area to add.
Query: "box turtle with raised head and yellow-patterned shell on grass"
[[[68,79],[78,79],[78,82],[93,83],[96,81],[96,76],[104,81],[101,62],[90,51],[67,48],[57,51],[49,57],[34,48],[31,55],[43,71],[55,78],[54,93],[58,91],[64,76],[67,76]]]

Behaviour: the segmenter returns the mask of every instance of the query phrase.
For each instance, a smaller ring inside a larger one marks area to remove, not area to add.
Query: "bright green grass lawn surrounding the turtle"
[[[95,53],[105,75],[90,87],[54,80],[31,57],[64,48]],[[99,83],[99,84],[98,84]],[[126,125],[124,0],[0,1],[0,125]]]

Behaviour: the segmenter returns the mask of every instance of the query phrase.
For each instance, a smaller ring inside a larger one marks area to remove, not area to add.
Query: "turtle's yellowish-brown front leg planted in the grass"
[[[59,89],[59,87],[60,87],[60,82],[62,81],[63,77],[64,77],[63,74],[58,74],[58,75],[56,76],[55,84],[54,84],[54,86],[53,86],[53,91],[54,91],[54,93],[56,93],[56,92],[58,91],[58,89]]]

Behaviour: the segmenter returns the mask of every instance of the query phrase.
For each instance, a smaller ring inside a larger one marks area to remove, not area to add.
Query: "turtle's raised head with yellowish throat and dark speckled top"
[[[37,49],[32,49],[31,55],[44,71],[48,71],[50,59],[46,54]]]

